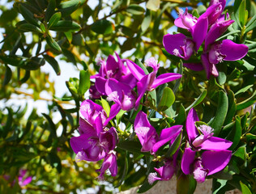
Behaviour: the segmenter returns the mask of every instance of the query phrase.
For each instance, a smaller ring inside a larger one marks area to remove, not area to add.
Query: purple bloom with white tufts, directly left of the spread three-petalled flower
[[[134,108],[137,99],[136,93],[125,83],[118,82],[113,78],[109,78],[105,84],[105,92],[108,99],[117,103],[124,111],[130,111]]]

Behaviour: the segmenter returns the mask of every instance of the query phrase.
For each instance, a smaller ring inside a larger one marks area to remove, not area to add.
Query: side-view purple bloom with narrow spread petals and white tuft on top
[[[150,74],[145,74],[143,69],[141,69],[139,65],[136,65],[132,61],[127,60],[127,65],[130,69],[130,72],[139,81],[137,82],[138,99],[135,102],[135,108],[138,108],[140,99],[142,99],[146,91],[152,91],[156,89],[157,86],[160,86],[166,82],[172,82],[173,80],[182,77],[181,74],[167,73],[160,74],[160,76],[156,78],[156,74],[160,65],[157,64],[156,59],[153,57],[146,61],[146,65],[151,66],[151,68],[153,69]]]

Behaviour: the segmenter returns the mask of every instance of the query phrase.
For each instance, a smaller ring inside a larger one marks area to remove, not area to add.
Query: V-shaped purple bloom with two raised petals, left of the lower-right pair
[[[143,146],[141,151],[151,151],[151,154],[156,153],[165,143],[175,140],[181,133],[181,129],[182,125],[175,125],[171,128],[163,129],[160,136],[158,136],[156,129],[147,120],[146,113],[140,111],[134,120],[135,133]]]

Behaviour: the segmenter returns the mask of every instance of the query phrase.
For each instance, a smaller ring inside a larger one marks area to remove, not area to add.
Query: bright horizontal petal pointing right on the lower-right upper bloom
[[[220,137],[210,137],[201,144],[202,150],[226,150],[233,142],[222,139]]]

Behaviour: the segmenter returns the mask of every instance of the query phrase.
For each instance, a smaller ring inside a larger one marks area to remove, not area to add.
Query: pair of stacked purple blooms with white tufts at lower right
[[[197,129],[196,121],[198,121],[198,116],[192,108],[186,119],[189,146],[187,145],[182,156],[181,170],[186,175],[193,174],[194,179],[202,183],[207,175],[215,174],[228,165],[232,151],[227,149],[232,142],[220,137],[213,137],[214,129],[207,125],[201,125]],[[200,150],[205,151],[201,157],[196,157]]]

